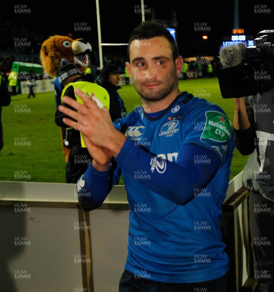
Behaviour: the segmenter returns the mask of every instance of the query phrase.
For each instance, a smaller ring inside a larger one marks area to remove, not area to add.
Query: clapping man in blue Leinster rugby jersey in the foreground
[[[122,174],[130,223],[119,292],[225,292],[220,222],[235,147],[231,123],[217,105],[178,89],[183,59],[160,23],[137,26],[128,56],[140,108],[112,123],[81,92],[83,105],[63,98],[78,112],[59,107],[77,121],[64,119],[93,157],[78,180],[79,204],[98,208]]]

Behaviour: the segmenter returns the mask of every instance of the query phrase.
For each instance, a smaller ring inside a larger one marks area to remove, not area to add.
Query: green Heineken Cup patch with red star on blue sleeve
[[[219,111],[211,110],[205,113],[206,122],[201,135],[201,141],[213,140],[225,142],[230,139],[231,123],[225,114]]]

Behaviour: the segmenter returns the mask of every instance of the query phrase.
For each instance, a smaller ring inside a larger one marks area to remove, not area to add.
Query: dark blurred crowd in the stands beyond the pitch
[[[0,35],[0,74],[5,78],[6,81],[9,73],[11,72],[14,61],[41,64],[39,51],[41,44],[49,36],[43,35],[43,33],[38,35],[37,33],[26,29],[23,26],[18,27],[12,20],[0,20]],[[15,46],[14,37],[20,36],[26,38],[27,41],[31,43],[31,46]],[[95,48],[94,45],[92,47],[93,50],[90,53],[90,67],[92,74],[96,78],[100,73],[99,51],[98,48]],[[114,54],[103,54],[103,65],[107,63],[114,64],[122,71],[125,70],[126,60],[126,55],[117,55],[117,52]],[[209,66],[208,64],[195,64],[194,61],[186,61],[185,64],[188,64],[188,66],[186,66],[187,68],[185,67],[186,71],[197,71],[197,78],[216,76],[216,72],[220,68],[220,63],[217,57],[214,61],[211,62],[211,65]],[[192,78],[193,75],[188,74],[188,76],[186,76],[186,74],[183,74],[182,76],[183,77],[181,79],[187,79]],[[46,73],[42,73],[36,77],[37,79],[50,78]]]

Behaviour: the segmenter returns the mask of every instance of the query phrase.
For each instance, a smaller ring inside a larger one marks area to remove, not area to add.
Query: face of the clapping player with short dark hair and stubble
[[[147,101],[157,101],[177,88],[177,62],[173,61],[169,41],[165,37],[134,40],[130,44],[130,64],[127,63],[134,87]]]

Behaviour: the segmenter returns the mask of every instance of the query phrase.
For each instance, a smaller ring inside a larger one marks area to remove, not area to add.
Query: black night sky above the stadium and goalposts
[[[41,3],[43,6],[41,6]],[[72,34],[73,38],[84,37],[98,48],[98,28],[96,1],[80,1],[73,7],[67,3],[55,6],[54,2],[36,2],[27,5],[29,14],[15,14],[15,4],[9,4],[3,19],[14,21],[18,26],[34,30],[37,34],[49,37],[55,34]],[[256,6],[255,6],[256,5]],[[267,5],[267,6],[263,6]],[[270,1],[239,0],[239,27],[245,34],[256,37],[264,29],[274,29],[274,5]],[[101,38],[103,43],[127,43],[134,27],[141,22],[139,0],[108,1],[99,0]],[[266,13],[259,13],[265,8]],[[180,55],[218,55],[223,36],[230,36],[234,28],[234,0],[168,0],[165,4],[159,0],[144,0],[145,18],[172,20],[172,11],[176,12],[176,39]],[[44,16],[44,14],[47,15]],[[202,39],[202,32],[195,30],[195,23],[208,27],[208,39]],[[77,26],[85,27],[87,31],[80,32]],[[12,37],[12,36],[11,36]],[[114,52],[125,55],[126,46],[104,47],[104,52]]]

